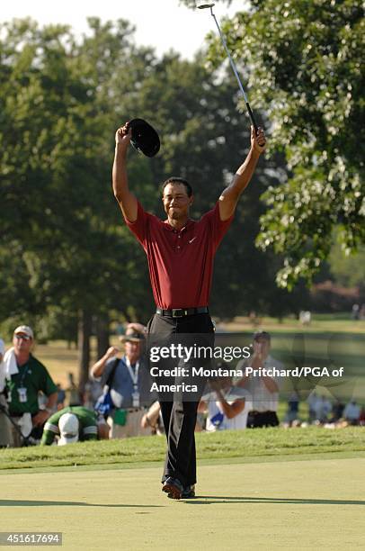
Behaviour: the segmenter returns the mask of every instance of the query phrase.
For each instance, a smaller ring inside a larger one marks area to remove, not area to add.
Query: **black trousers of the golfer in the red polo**
[[[172,343],[182,343],[184,346],[214,346],[214,327],[208,313],[194,314],[182,318],[173,318],[155,314],[147,324],[148,348],[169,346]],[[184,376],[159,375],[154,378],[156,384],[195,384],[197,391],[190,392],[159,392],[167,438],[167,453],[162,482],[167,476],[177,478],[182,485],[196,483],[196,452],[194,429],[197,409],[201,394],[207,383],[207,377],[191,375],[192,366],[210,366],[207,358],[198,358],[189,363],[175,358],[161,358],[154,366],[170,371],[177,366],[183,366],[189,372]]]

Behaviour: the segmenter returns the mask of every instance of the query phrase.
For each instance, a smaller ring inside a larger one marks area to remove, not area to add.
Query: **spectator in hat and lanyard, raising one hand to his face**
[[[125,356],[118,359],[116,355],[120,350],[108,348],[91,369],[91,376],[94,379],[101,378],[104,385],[115,367],[110,384],[114,407],[108,417],[111,438],[151,434],[149,427],[141,427],[147,407],[156,400],[150,393],[152,381],[142,351],[145,343],[143,325],[130,323],[120,341],[125,346]]]

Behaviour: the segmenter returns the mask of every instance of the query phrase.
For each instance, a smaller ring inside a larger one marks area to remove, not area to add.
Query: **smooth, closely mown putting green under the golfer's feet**
[[[202,465],[193,501],[167,499],[156,467],[6,474],[0,529],[60,531],[54,548],[80,551],[363,549],[364,471],[364,458]]]

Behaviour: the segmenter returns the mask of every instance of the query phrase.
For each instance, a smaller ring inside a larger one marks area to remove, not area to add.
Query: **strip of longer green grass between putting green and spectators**
[[[260,456],[300,456],[331,452],[365,451],[365,429],[247,429],[197,433],[200,460]],[[75,465],[122,465],[136,467],[162,462],[165,437],[127,438],[77,443],[66,447],[22,447],[0,450],[0,469],[47,468]]]

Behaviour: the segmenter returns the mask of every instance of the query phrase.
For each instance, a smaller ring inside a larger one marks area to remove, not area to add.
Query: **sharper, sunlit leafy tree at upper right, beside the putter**
[[[249,69],[254,108],[270,121],[270,150],[289,177],[264,194],[257,244],[283,256],[277,280],[308,282],[328,256],[365,240],[361,0],[252,0],[224,23],[228,46]],[[221,51],[218,40],[211,57]]]

